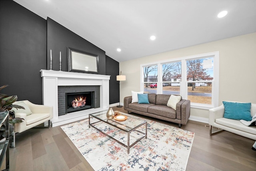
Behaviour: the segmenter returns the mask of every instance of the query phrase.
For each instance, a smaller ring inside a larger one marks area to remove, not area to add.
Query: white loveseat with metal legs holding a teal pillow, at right
[[[239,103],[239,102],[238,102]],[[256,114],[256,104],[251,104],[251,115]],[[229,131],[250,139],[256,140],[256,126],[246,126],[240,120],[224,118],[224,105],[215,107],[209,110],[209,125],[210,135],[216,133],[212,132],[212,127],[217,127],[225,131]]]

